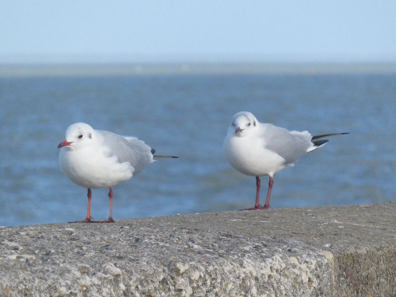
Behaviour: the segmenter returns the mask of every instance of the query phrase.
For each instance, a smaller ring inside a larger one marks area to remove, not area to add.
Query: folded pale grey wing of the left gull
[[[151,148],[136,137],[123,137],[108,131],[100,133],[109,154],[115,155],[120,163],[129,162],[135,168],[135,175],[153,162]]]

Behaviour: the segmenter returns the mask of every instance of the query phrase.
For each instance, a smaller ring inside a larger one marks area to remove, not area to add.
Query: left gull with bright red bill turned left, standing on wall
[[[60,168],[73,183],[88,188],[87,218],[69,223],[114,222],[112,187],[137,175],[155,159],[177,158],[154,155],[155,149],[136,137],[95,130],[85,123],[70,125],[65,136],[66,139],[58,145],[61,148]],[[110,215],[107,220],[94,221],[91,216],[91,189],[105,187],[109,187]]]

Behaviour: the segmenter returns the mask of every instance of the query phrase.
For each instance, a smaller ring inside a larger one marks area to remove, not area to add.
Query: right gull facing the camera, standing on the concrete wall
[[[349,133],[331,133],[312,136],[308,131],[289,131],[272,124],[260,123],[247,111],[234,115],[223,151],[228,162],[238,171],[256,177],[256,200],[252,209],[268,209],[273,176],[289,166],[294,166],[300,157],[323,147],[325,138]],[[269,176],[267,199],[259,203],[260,176]]]

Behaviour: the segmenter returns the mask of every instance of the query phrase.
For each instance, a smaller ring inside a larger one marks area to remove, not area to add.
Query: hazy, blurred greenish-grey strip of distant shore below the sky
[[[396,62],[234,63],[0,63],[0,77],[95,77],[140,75],[396,74]]]

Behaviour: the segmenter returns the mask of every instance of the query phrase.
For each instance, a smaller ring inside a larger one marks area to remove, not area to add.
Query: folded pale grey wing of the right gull
[[[289,131],[271,124],[263,126],[264,147],[279,154],[288,164],[296,162],[313,146],[308,131]]]

